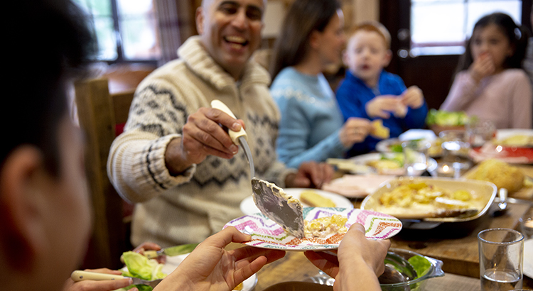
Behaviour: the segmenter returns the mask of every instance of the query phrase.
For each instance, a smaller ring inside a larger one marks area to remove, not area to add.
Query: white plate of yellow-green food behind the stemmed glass
[[[419,153],[420,163],[424,163],[426,157]],[[404,154],[403,153],[367,153],[350,158],[355,165],[361,165],[372,168],[373,172],[380,175],[404,175]],[[421,175],[424,170],[433,172],[437,168],[437,162],[433,158],[427,160],[426,169],[416,170],[416,175]]]

